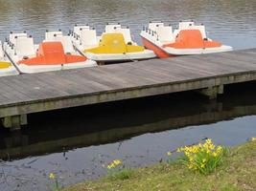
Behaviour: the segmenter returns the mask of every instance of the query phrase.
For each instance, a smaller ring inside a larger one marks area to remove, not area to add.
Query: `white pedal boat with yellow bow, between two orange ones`
[[[132,41],[130,30],[121,25],[106,25],[101,36],[88,26],[75,26],[74,46],[89,59],[98,62],[114,62],[150,59],[155,54]]]

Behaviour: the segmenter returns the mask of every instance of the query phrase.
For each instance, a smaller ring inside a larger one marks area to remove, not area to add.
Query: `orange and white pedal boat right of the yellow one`
[[[160,58],[232,51],[232,47],[208,38],[205,27],[196,25],[193,21],[179,22],[178,29],[174,32],[171,25],[151,22],[149,28],[145,28],[140,35],[144,46]]]

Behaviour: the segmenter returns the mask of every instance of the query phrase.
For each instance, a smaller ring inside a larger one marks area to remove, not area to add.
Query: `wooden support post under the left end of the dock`
[[[4,117],[2,119],[5,128],[10,128],[11,131],[20,130],[21,125],[28,124],[27,115],[18,115],[12,117]]]

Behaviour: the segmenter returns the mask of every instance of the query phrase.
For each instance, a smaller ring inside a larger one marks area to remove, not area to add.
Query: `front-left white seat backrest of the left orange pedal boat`
[[[15,39],[15,51],[19,56],[35,54],[34,39],[32,37],[18,37]]]

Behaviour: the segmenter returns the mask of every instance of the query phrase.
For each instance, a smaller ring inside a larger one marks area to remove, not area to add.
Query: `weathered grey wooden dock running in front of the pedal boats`
[[[256,49],[20,74],[1,77],[0,117],[17,129],[32,113],[191,90],[215,98],[226,84],[252,80]]]

